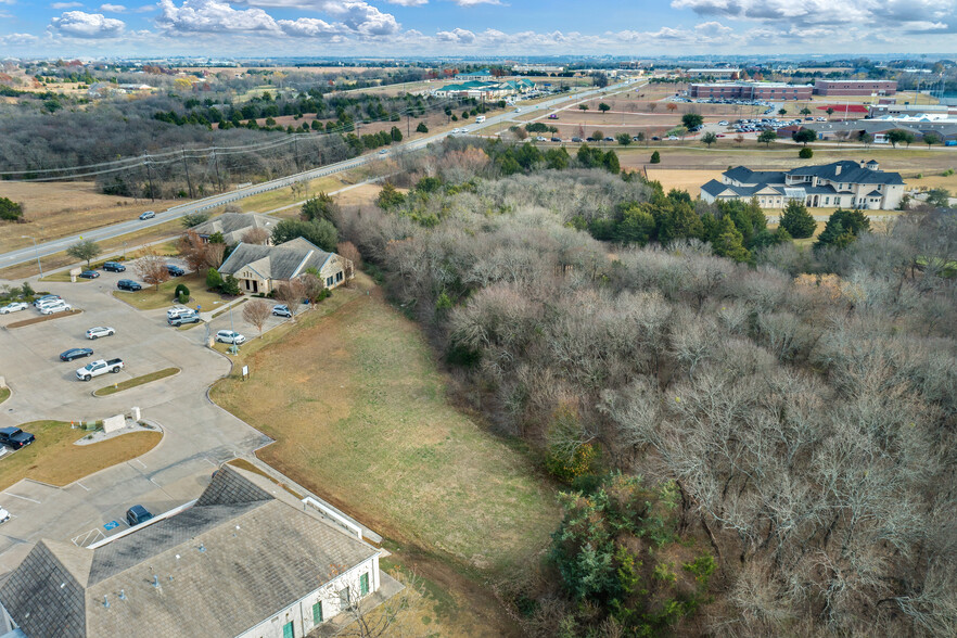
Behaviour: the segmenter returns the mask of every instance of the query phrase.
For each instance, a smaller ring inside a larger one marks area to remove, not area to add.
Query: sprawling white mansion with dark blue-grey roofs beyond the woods
[[[807,207],[893,210],[904,196],[899,173],[884,173],[870,162],[834,162],[788,171],[751,170],[736,166],[701,187],[705,202],[756,199],[765,208],[783,208],[791,200]]]

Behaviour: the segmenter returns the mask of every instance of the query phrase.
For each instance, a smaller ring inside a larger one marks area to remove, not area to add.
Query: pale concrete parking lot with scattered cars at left
[[[171,260],[173,263],[173,260]],[[0,316],[0,375],[13,395],[0,406],[0,426],[40,420],[97,420],[138,406],[142,418],[158,424],[164,438],[139,459],[103,470],[65,488],[21,481],[0,493],[0,506],[11,520],[0,525],[0,574],[15,566],[40,537],[87,545],[125,527],[126,510],[137,503],[153,512],[182,505],[202,492],[222,461],[247,455],[269,439],[206,399],[206,388],[230,370],[224,356],[204,346],[206,328],[176,330],[166,324],[166,310],[137,310],[113,296],[116,281],[136,279],[132,269],[104,272],[85,283],[31,280],[41,291],[61,295],[79,315],[14,329],[13,322],[39,316],[30,307]],[[16,282],[20,283],[20,282]],[[170,304],[171,305],[171,304]],[[257,331],[242,319],[242,306],[208,326],[210,333],[230,329],[252,339]],[[270,324],[281,321],[270,318]],[[88,328],[107,326],[116,334],[85,339]],[[71,347],[91,347],[91,357],[64,362],[59,354]],[[122,358],[126,368],[89,382],[75,370],[91,360]],[[107,397],[92,391],[114,382],[176,367],[176,377]],[[2,462],[2,459],[0,459]]]

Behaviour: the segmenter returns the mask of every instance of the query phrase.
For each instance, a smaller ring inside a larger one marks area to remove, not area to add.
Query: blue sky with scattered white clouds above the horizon
[[[0,58],[957,51],[957,0],[0,0]]]

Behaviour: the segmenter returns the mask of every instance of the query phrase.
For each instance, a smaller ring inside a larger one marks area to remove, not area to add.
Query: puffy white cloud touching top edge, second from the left
[[[156,23],[171,34],[213,31],[279,31],[279,25],[261,9],[233,9],[217,0],[186,0],[177,7],[161,0]]]

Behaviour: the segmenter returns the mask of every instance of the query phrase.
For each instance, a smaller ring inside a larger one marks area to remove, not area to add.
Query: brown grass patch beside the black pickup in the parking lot
[[[21,478],[64,486],[153,449],[163,435],[130,432],[91,445],[74,445],[87,435],[62,421],[34,421],[21,429],[37,436],[33,445],[0,458],[0,489]]]

